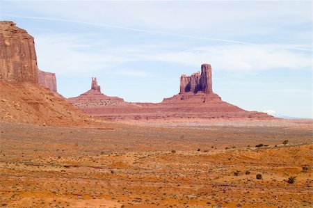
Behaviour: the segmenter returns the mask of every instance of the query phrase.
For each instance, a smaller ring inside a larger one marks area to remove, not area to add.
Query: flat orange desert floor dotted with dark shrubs
[[[312,132],[312,121],[103,128],[0,121],[0,206],[312,207]]]

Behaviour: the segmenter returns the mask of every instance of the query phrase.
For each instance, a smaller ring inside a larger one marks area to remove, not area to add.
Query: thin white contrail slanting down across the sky
[[[241,45],[258,45],[252,42],[242,42],[237,40],[228,40],[228,39],[220,39],[220,38],[207,38],[207,37],[200,37],[200,36],[194,36],[194,35],[184,35],[179,33],[170,33],[166,31],[153,31],[153,30],[146,30],[146,29],[138,29],[133,27],[127,27],[127,26],[120,26],[120,25],[114,25],[114,24],[102,24],[102,23],[93,23],[93,22],[81,22],[81,21],[75,21],[70,19],[60,19],[60,18],[51,18],[51,17],[32,17],[32,16],[22,16],[22,15],[11,15],[11,14],[2,14],[2,16],[8,16],[8,17],[19,17],[19,18],[26,18],[26,19],[41,19],[41,20],[49,20],[49,21],[58,21],[58,22],[72,22],[76,24],[87,24],[91,26],[103,26],[108,28],[115,28],[115,29],[125,29],[129,31],[138,31],[138,32],[144,32],[144,33],[157,33],[157,34],[164,34],[164,35],[171,35],[181,38],[192,38],[192,39],[199,39],[199,40],[213,40],[213,41],[219,41],[219,42],[231,42]],[[261,46],[261,45],[258,45]],[[298,50],[298,51],[312,51],[312,49],[305,49],[305,48],[299,48],[299,47],[276,47],[280,49],[292,49],[292,50]]]

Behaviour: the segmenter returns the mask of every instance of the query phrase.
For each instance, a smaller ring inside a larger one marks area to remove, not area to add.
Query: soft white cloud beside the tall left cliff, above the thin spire
[[[90,45],[82,42],[80,36],[69,34],[36,37],[38,67],[57,74],[67,74],[105,70],[115,63],[129,61],[127,57],[121,60],[118,56],[97,53],[88,49]],[[102,44],[105,45],[105,42]]]

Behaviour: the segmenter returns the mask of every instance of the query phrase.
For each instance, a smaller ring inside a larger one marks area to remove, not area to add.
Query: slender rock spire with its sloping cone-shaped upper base
[[[101,88],[98,86],[97,78],[91,79],[91,89],[86,93],[79,95],[78,97],[70,97],[67,99],[68,102],[77,106],[94,106],[98,104],[106,104],[107,101],[124,102],[124,99],[120,97],[110,97],[101,93]],[[90,104],[93,103],[93,104]],[[111,102],[110,102],[111,103]],[[112,102],[113,103],[113,102]],[[84,105],[86,104],[86,105]]]

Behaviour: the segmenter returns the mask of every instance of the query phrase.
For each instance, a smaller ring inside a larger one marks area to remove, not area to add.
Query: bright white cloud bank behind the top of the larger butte
[[[286,46],[282,46],[284,47]],[[156,54],[147,58],[191,66],[211,63],[216,70],[230,71],[259,71],[273,68],[298,70],[312,67],[310,54],[276,48],[280,46],[218,45]]]

